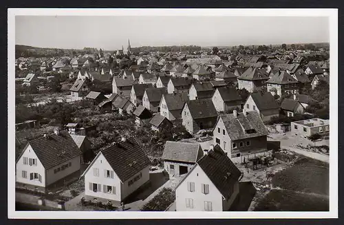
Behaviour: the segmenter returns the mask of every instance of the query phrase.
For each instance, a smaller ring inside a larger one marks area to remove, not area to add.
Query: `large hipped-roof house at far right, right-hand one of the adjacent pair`
[[[266,81],[268,92],[273,96],[276,94],[280,97],[286,94],[299,93],[299,81],[295,80],[288,72],[279,71]]]

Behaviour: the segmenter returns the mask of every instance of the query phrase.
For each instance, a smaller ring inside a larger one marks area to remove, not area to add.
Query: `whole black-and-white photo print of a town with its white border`
[[[338,217],[337,19],[9,9],[9,217]]]

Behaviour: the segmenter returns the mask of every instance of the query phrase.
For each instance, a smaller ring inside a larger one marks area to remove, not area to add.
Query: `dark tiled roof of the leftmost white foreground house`
[[[54,133],[30,140],[28,144],[45,169],[55,167],[81,154],[80,149],[67,131],[60,131],[58,135]]]

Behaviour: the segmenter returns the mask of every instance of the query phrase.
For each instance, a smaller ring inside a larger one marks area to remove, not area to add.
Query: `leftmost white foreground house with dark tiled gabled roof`
[[[16,161],[16,184],[45,192],[67,176],[80,175],[81,154],[67,131],[30,140]]]

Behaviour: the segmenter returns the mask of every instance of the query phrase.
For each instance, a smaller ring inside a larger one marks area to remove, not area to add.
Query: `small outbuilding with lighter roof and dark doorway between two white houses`
[[[200,143],[166,141],[162,160],[164,169],[171,177],[189,173],[204,155]]]

